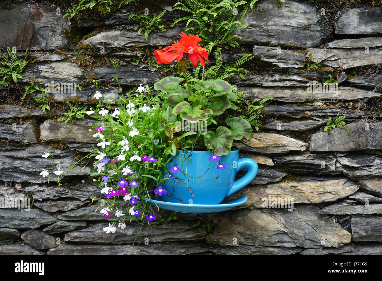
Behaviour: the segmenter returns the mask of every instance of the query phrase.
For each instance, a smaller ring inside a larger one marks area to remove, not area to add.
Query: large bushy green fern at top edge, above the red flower
[[[182,0],[175,3],[173,9],[185,11],[189,15],[176,19],[173,25],[186,21],[186,31],[202,37],[206,42],[204,47],[209,52],[214,47],[235,48],[239,46],[235,38],[241,39],[241,36],[232,32],[236,29],[250,28],[236,20],[238,9],[245,4],[246,1],[238,0]],[[247,9],[244,9],[241,20],[246,11]]]

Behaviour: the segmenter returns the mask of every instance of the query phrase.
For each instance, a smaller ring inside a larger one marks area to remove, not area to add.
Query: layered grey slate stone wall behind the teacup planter
[[[141,241],[147,237],[149,245],[141,244],[138,253],[381,253],[382,72],[358,70],[382,64],[382,8],[345,9],[333,25],[306,2],[264,0],[261,7],[244,18],[252,28],[237,31],[242,48],[223,53],[235,59],[252,50],[258,67],[245,81],[237,77],[232,83],[248,90],[249,99],[273,98],[264,110],[265,126],[251,140],[235,144],[242,157],[259,164],[253,182],[232,195],[245,194],[248,202],[223,213],[177,213],[176,220],[146,226]],[[166,19],[180,16],[165,8]],[[0,209],[0,253],[137,253],[131,244],[139,225],[115,234],[102,231],[108,218],[92,204],[99,190],[87,176],[90,165],[70,170],[61,187],[54,178],[47,182],[39,176],[43,168],[52,168],[41,157],[44,151],[66,168],[94,145],[88,130],[93,120],[61,124],[57,116],[65,101],[96,102],[94,89],[87,86],[92,79],[107,82],[105,98],[118,97],[109,57],[123,63],[118,75],[126,89],[162,78],[157,68],[137,63],[136,57],[142,47],[178,40],[185,27],[151,33],[146,41],[128,19],[131,13],[124,8],[99,21],[67,21],[56,7],[32,2],[0,11],[0,47],[16,46],[19,56],[29,49],[33,59],[23,81],[36,76],[42,83],[84,85],[76,96],[50,94],[52,109],[45,114],[21,102],[25,85],[0,88],[0,197],[33,201],[30,211]],[[318,70],[304,66],[308,56],[311,63],[320,62]],[[307,91],[308,83],[322,83],[329,73],[335,74],[338,91]],[[341,128],[323,132],[324,119],[337,115],[346,115],[351,135]],[[293,198],[294,210],[262,208],[262,198],[269,196]]]

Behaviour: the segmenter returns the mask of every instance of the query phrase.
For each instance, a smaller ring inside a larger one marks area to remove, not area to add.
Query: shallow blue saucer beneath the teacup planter
[[[238,198],[235,198],[233,200],[223,201],[220,204],[217,205],[189,205],[189,204],[182,204],[182,203],[172,203],[172,202],[165,202],[160,200],[153,200],[144,198],[147,202],[151,203],[152,205],[158,205],[159,208],[170,210],[170,211],[176,211],[180,213],[189,213],[189,214],[206,214],[206,213],[217,213],[217,212],[223,212],[227,210],[231,210],[235,208],[236,206],[240,206],[241,204],[244,204],[248,198],[245,195],[242,195]]]

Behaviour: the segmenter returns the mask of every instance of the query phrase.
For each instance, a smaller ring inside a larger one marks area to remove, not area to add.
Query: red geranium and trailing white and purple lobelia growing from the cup
[[[194,67],[198,62],[204,66],[208,54],[197,45],[201,39],[184,33],[180,36],[179,42],[155,50],[157,62],[176,60],[183,74],[189,62]],[[117,71],[118,64],[113,65]],[[115,79],[118,82],[118,77]],[[155,209],[144,198],[166,194],[168,179],[186,175],[180,165],[169,163],[169,156],[176,156],[178,149],[193,151],[198,146],[211,151],[207,169],[220,172],[227,167],[220,156],[230,153],[233,140],[249,139],[252,133],[248,121],[222,118],[231,101],[237,99],[233,87],[223,80],[190,84],[186,75],[165,77],[154,89],[140,85],[134,96],[113,100],[102,100],[99,83],[93,83],[98,103],[86,112],[96,119],[91,129],[97,145],[89,154],[94,161],[90,175],[95,176],[100,190],[98,211],[110,218],[104,227],[106,233],[115,233],[117,227],[124,229],[132,221],[155,221]],[[195,124],[199,129],[190,129]],[[43,155],[47,156],[49,153]],[[47,176],[48,171],[41,175]]]

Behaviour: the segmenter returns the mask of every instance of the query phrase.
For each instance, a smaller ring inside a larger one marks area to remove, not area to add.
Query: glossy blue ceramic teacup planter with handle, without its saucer
[[[213,158],[210,161],[210,156],[212,153],[209,151],[195,150],[185,153],[179,150],[177,156],[171,156],[168,166],[173,169],[172,172],[168,170],[173,176],[165,180],[167,193],[161,196],[162,200],[190,205],[217,205],[256,177],[257,163],[250,158],[239,159],[238,150],[220,156],[216,162]],[[235,181],[236,173],[242,169],[247,169],[247,173]]]

